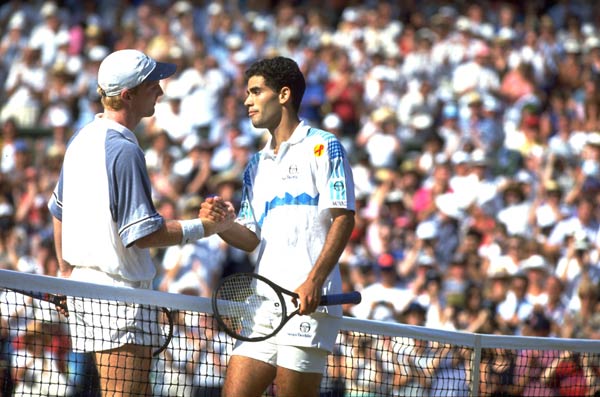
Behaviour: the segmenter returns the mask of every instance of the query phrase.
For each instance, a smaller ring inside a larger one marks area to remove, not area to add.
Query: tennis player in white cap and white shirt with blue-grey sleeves
[[[227,202],[213,207],[217,217],[210,220],[166,220],[152,202],[144,153],[133,130],[154,114],[163,94],[160,80],[175,70],[137,50],[113,52],[100,64],[104,111],[69,141],[48,203],[61,276],[151,288],[156,269],[149,248],[185,244],[233,222],[235,212]],[[148,395],[152,351],[159,345],[159,333],[149,329],[156,314],[106,300],[69,299],[68,304],[73,348],[95,352],[102,394]]]

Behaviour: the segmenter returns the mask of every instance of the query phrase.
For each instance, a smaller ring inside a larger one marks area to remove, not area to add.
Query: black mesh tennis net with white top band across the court
[[[49,302],[53,295],[69,298],[70,316],[93,310],[107,323],[77,329],[71,338],[68,320]],[[84,304],[90,299],[98,306]],[[79,350],[102,342],[103,327],[119,321],[110,317],[127,304],[144,308],[143,337],[154,346],[152,395],[219,396],[234,341],[213,321],[209,299],[6,270],[0,270],[0,395],[101,395],[94,358]],[[594,395],[599,375],[598,341],[344,318],[321,396]],[[276,395],[276,385],[266,395]]]

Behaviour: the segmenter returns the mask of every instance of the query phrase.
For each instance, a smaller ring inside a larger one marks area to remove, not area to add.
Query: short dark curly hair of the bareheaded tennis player
[[[299,111],[306,90],[306,81],[295,61],[282,56],[262,59],[246,70],[246,81],[254,76],[262,76],[265,85],[275,92],[279,92],[283,87],[289,87],[294,109]]]

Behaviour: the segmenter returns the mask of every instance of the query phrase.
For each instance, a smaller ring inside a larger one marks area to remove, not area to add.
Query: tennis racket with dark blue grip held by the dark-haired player
[[[286,300],[287,295],[288,299]],[[215,319],[231,337],[248,342],[279,332],[300,308],[288,313],[289,298],[298,294],[255,273],[235,273],[221,280],[212,295]],[[360,303],[359,292],[324,295],[320,306]]]

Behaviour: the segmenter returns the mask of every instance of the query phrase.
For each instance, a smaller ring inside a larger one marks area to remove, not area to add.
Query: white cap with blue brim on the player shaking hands
[[[176,69],[175,64],[157,62],[141,51],[119,50],[109,54],[100,64],[98,85],[106,96],[116,96],[146,80],[165,79]]]

